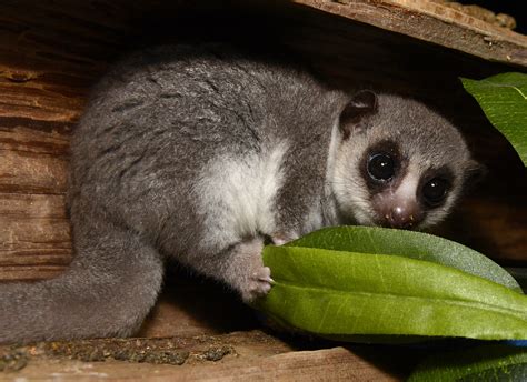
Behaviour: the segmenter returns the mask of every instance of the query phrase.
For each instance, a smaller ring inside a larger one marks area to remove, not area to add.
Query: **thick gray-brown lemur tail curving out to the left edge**
[[[76,255],[58,278],[0,284],[0,343],[125,336],[156,302],[163,265],[136,234],[95,218],[73,224]]]

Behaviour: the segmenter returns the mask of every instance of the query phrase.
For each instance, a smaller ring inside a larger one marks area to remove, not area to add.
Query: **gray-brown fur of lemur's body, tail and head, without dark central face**
[[[266,238],[375,223],[354,165],[379,137],[406,141],[418,162],[456,162],[457,199],[470,159],[446,120],[379,94],[370,127],[344,139],[349,99],[304,69],[225,46],[155,48],[118,64],[72,137],[72,263],[52,280],[0,285],[0,342],[132,334],[167,258],[245,301],[267,293]]]

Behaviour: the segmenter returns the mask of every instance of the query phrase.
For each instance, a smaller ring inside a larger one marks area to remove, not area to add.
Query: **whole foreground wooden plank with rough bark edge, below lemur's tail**
[[[371,363],[375,349],[327,344],[320,350],[291,350],[290,343],[261,331],[51,342],[14,350],[0,348],[0,362],[18,354],[19,363],[11,363],[11,368],[21,368],[0,374],[0,381],[400,381],[405,375],[396,353],[406,353],[401,350],[392,349],[389,356],[377,359],[386,369]],[[390,372],[394,370],[398,372]]]

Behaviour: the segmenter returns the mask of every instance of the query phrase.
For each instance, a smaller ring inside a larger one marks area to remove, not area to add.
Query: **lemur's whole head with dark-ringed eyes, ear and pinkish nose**
[[[438,223],[481,169],[447,119],[399,96],[358,92],[334,137],[332,192],[339,212],[358,224]]]

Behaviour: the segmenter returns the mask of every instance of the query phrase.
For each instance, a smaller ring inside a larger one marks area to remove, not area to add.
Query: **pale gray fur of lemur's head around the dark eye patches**
[[[397,192],[391,187],[376,195],[368,191],[360,173],[360,161],[362,153],[375,142],[397,142],[408,165],[401,178],[410,173],[419,179],[427,170],[439,168],[448,168],[454,175],[445,203],[426,211],[424,221],[416,229],[443,221],[459,200],[467,180],[481,171],[470,158],[461,134],[446,118],[417,100],[395,94],[378,94],[377,112],[360,121],[349,140],[351,142],[340,141],[336,170],[330,179],[340,210],[364,225],[382,224],[375,201],[379,197],[391,198]]]

